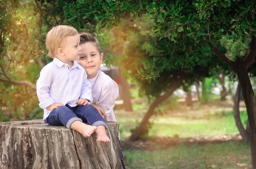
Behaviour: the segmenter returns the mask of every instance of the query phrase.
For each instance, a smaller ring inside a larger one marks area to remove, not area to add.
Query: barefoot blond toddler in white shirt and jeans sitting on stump
[[[99,142],[109,142],[107,125],[89,105],[91,84],[84,69],[76,62],[81,54],[79,43],[79,34],[71,26],[58,25],[48,32],[46,47],[48,55],[54,59],[41,70],[37,81],[39,106],[44,109],[47,124],[64,125],[84,137],[96,132]]]

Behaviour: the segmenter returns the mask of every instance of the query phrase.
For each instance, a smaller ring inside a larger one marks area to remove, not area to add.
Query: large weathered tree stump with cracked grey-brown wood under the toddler
[[[107,125],[110,143],[42,120],[0,123],[0,169],[122,169],[119,123]]]

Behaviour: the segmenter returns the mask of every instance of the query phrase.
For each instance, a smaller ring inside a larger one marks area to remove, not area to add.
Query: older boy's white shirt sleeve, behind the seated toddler
[[[95,104],[102,107],[107,116],[109,116],[111,110],[113,110],[113,107],[115,106],[115,101],[118,95],[118,85],[116,82],[110,81],[105,87],[102,88],[99,100]]]

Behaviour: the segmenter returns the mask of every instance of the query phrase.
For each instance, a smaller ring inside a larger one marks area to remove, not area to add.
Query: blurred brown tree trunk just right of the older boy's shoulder
[[[125,111],[133,111],[132,104],[131,104],[131,93],[130,87],[128,85],[127,79],[124,78],[122,73],[122,67],[119,67],[119,75],[120,75],[120,82],[121,82],[121,96],[124,101],[124,110]]]

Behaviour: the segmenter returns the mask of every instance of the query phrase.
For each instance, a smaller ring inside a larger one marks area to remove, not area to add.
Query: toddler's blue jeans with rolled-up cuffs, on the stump
[[[66,106],[57,107],[44,119],[44,122],[52,126],[66,126],[70,129],[71,124],[77,120],[91,126],[102,125],[107,128],[107,124],[97,109],[88,104],[85,106],[77,105],[76,107],[70,107],[66,104]]]

